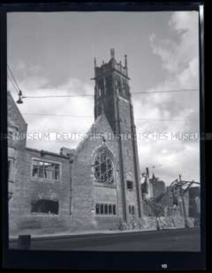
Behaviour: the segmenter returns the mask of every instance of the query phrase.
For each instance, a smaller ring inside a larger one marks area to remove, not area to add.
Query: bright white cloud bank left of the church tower
[[[47,79],[37,81],[37,77],[29,77],[20,82],[20,85],[23,90],[30,86],[28,90],[33,93],[24,94],[29,96],[85,95],[92,94],[94,89],[91,84],[72,78],[58,88],[43,88],[46,82]],[[14,91],[12,95],[16,99]],[[62,146],[75,148],[82,139],[80,135],[86,133],[94,122],[94,97],[26,98],[24,104],[19,105],[19,109],[28,123],[30,137],[27,145],[35,149],[58,152]],[[40,140],[46,133],[54,133],[54,137],[50,141]]]

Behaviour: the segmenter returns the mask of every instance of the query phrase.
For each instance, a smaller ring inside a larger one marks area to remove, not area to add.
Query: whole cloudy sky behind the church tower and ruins
[[[17,104],[27,146],[77,147],[94,122],[94,97],[82,97],[94,94],[94,57],[108,62],[114,48],[117,62],[127,55],[141,172],[149,167],[167,185],[179,173],[200,181],[198,43],[195,11],[9,13],[8,64],[23,94],[80,95]],[[16,101],[10,81],[8,90]],[[192,91],[164,93],[176,90]]]

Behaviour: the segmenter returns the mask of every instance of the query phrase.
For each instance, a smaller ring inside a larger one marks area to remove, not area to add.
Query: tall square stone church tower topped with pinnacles
[[[129,209],[132,200],[136,200],[136,214],[141,218],[139,158],[127,55],[124,65],[117,63],[112,48],[109,62],[98,67],[95,59],[94,66],[95,120],[104,113],[118,141],[123,220],[127,221],[128,215],[132,214]]]

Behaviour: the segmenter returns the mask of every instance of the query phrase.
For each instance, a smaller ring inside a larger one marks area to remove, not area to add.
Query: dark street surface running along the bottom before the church
[[[17,240],[10,241],[10,249],[18,249]],[[115,234],[87,234],[32,238],[31,250],[73,251],[200,251],[200,229],[163,229],[148,232],[120,232]]]

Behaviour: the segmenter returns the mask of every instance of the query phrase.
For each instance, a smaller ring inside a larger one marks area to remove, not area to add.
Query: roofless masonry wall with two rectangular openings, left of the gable
[[[32,160],[52,160],[61,163],[61,180],[40,180],[32,178]],[[17,154],[15,191],[10,200],[10,235],[51,234],[70,228],[70,164],[68,158],[44,154],[33,149],[22,149]],[[58,215],[31,213],[31,202],[39,199],[59,201]]]

